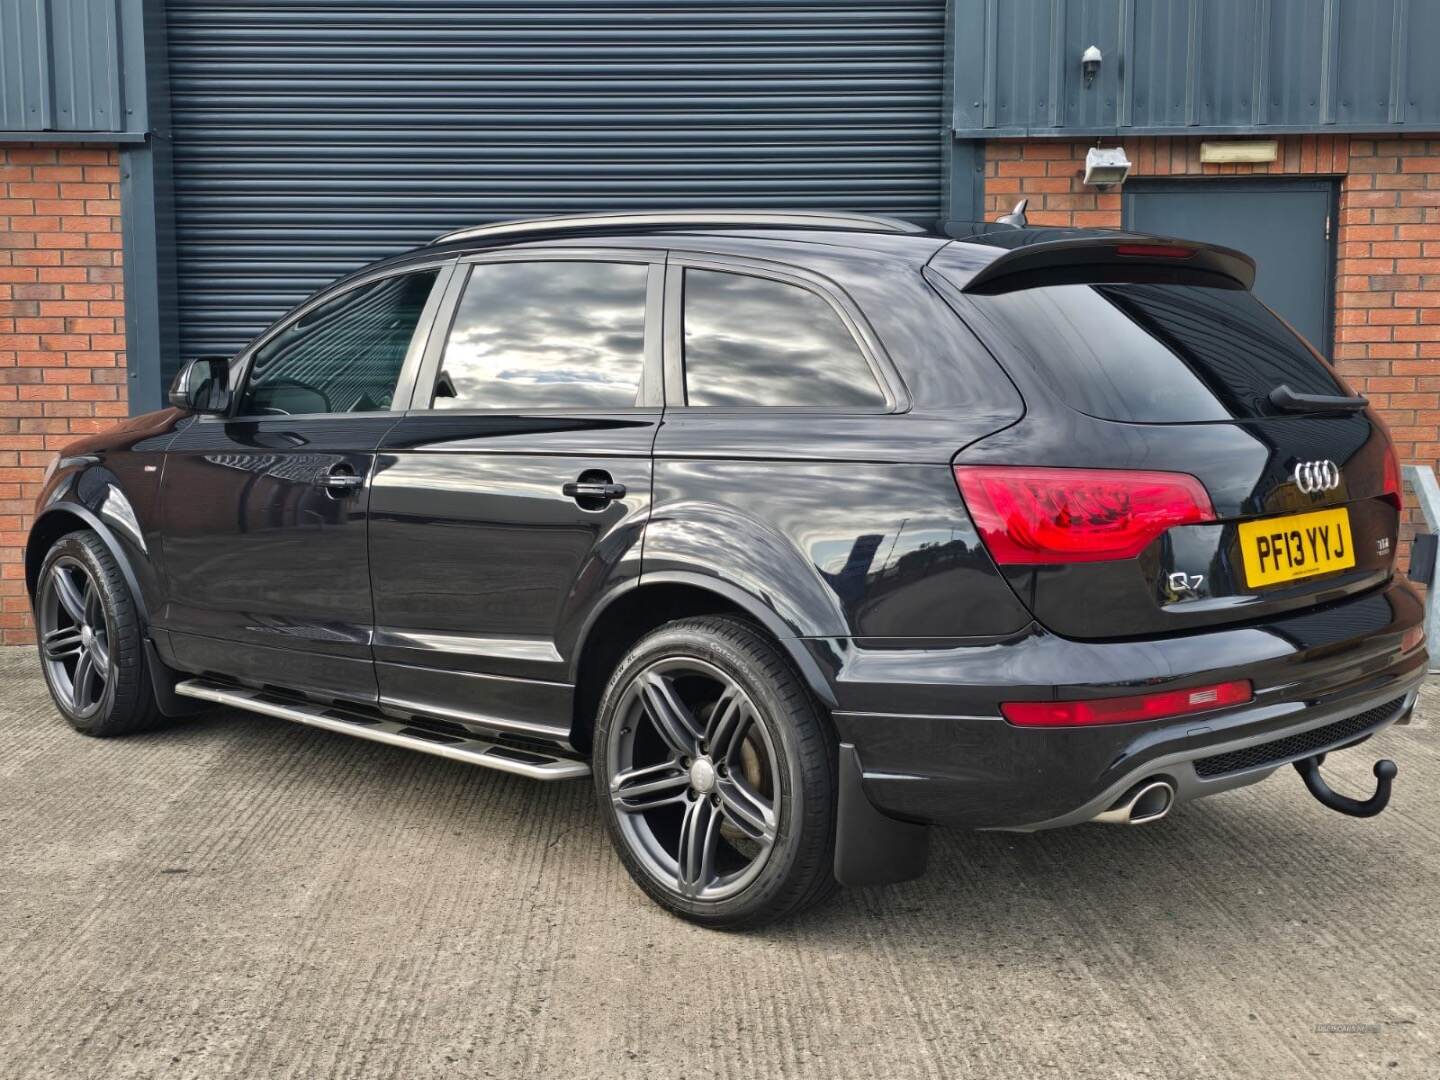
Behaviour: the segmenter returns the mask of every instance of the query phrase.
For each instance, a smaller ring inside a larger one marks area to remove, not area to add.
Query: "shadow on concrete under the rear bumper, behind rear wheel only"
[[[887,937],[973,927],[992,943],[1047,930],[1240,940],[1297,924],[1385,926],[1404,917],[1387,881],[1428,873],[1391,819],[1325,809],[1289,769],[1257,788],[1176,808],[1140,827],[1077,825],[1034,834],[933,829],[927,873],[842,893],[806,916],[811,940],[876,924]],[[1133,935],[1133,937],[1130,937]]]

